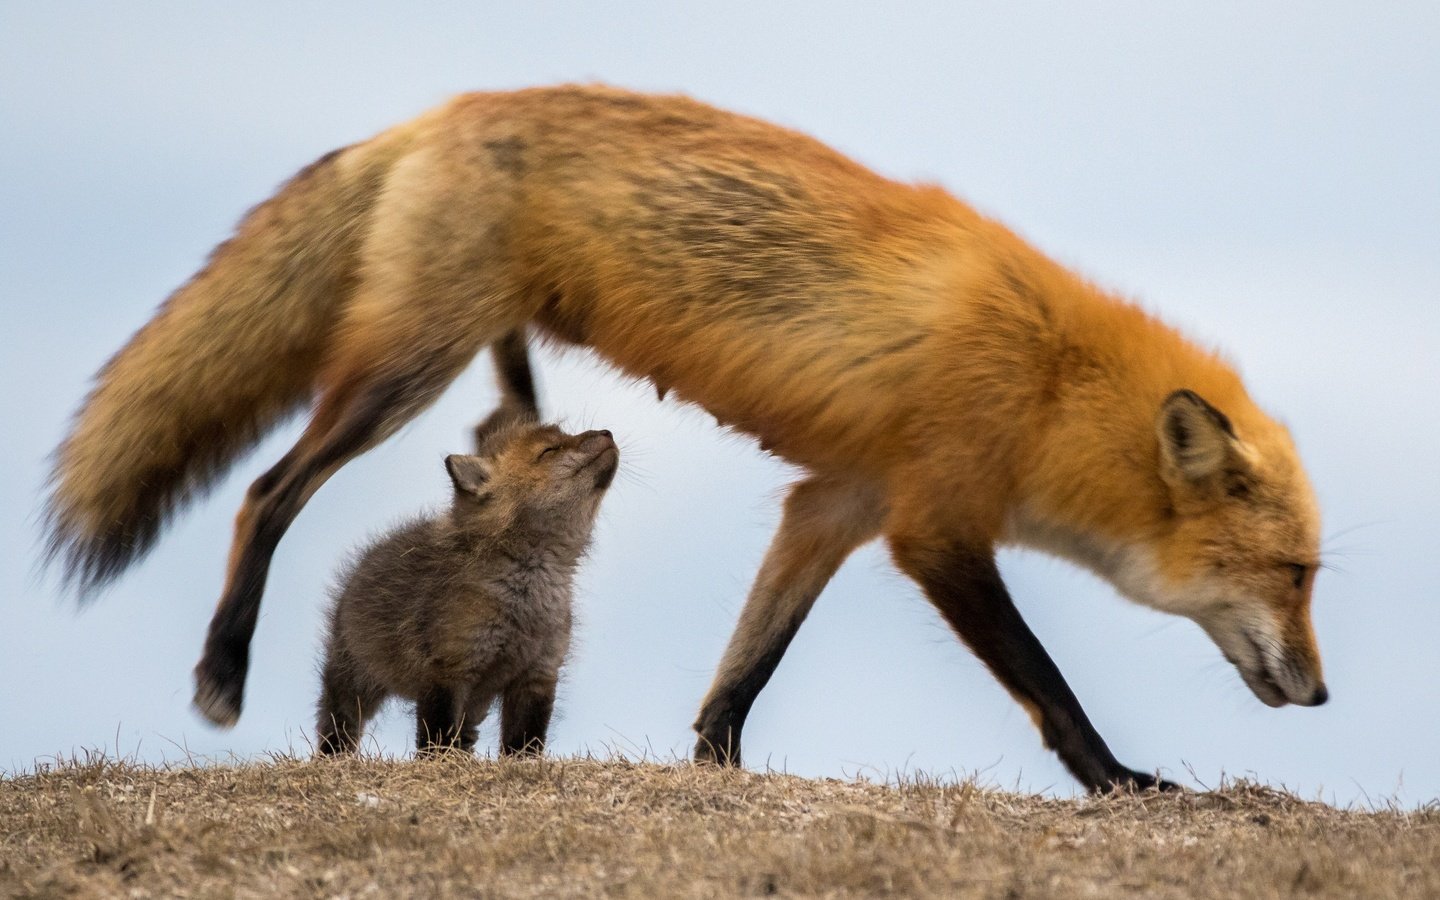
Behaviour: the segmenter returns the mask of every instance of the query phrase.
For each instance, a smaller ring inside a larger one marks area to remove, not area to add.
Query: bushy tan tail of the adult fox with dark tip
[[[99,370],[46,508],[48,560],[82,595],[311,399],[389,156],[361,144],[304,168]]]

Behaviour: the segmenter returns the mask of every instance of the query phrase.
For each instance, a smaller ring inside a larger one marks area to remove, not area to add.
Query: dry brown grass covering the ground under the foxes
[[[1440,896],[1440,809],[1054,801],[589,759],[92,759],[0,780],[4,896]]]

